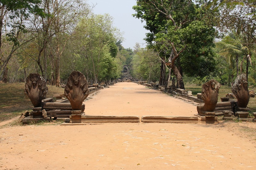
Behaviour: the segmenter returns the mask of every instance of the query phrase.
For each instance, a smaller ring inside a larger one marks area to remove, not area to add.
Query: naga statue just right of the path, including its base
[[[202,86],[203,105],[197,106],[199,115],[207,117],[210,122],[214,122],[215,113],[213,112],[218,102],[220,83],[216,80],[210,80]]]

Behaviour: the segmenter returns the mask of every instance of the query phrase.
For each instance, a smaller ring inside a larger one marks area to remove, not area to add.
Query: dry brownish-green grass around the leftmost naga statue
[[[47,98],[64,93],[64,88],[47,86]],[[0,122],[32,110],[33,105],[29,99],[25,99],[24,89],[25,83],[0,84]]]

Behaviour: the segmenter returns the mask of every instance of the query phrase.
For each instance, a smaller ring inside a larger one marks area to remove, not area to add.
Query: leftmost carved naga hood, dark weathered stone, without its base
[[[42,100],[45,99],[48,87],[42,76],[37,73],[31,73],[26,78],[25,91],[34,107],[42,106]]]

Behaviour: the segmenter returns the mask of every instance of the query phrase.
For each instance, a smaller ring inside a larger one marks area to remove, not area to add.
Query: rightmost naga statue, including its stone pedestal
[[[231,86],[231,91],[237,98],[236,114],[239,115],[239,120],[247,121],[249,112],[246,106],[249,103],[250,95],[248,82],[244,73],[236,77],[235,82]]]

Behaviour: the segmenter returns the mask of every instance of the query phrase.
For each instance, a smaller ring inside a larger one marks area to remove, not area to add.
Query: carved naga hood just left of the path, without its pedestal
[[[73,110],[81,110],[83,101],[89,95],[88,83],[83,73],[73,71],[69,75],[64,94],[70,101]]]

